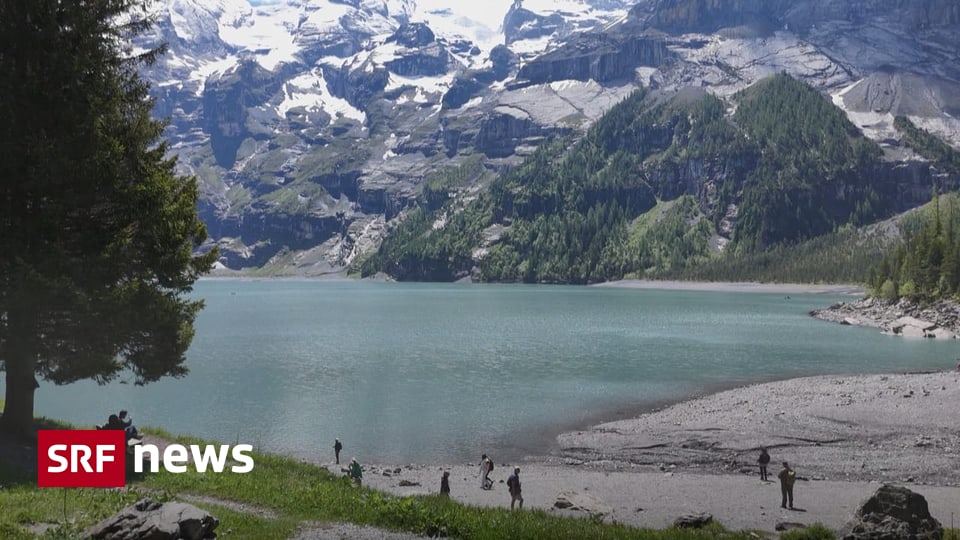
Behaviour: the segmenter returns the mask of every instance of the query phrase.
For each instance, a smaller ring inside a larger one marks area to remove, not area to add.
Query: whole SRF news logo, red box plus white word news
[[[133,459],[133,470],[141,473],[144,461],[149,461],[150,472],[158,472],[160,464],[172,473],[221,473],[232,457],[232,473],[253,470],[253,451],[249,444],[229,445],[167,445],[163,452],[153,444],[133,447],[127,454],[126,434],[122,430],[41,430],[37,432],[37,485],[39,487],[124,487],[127,478],[127,460]]]

